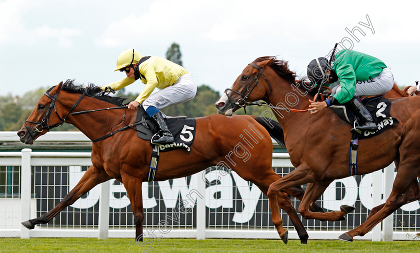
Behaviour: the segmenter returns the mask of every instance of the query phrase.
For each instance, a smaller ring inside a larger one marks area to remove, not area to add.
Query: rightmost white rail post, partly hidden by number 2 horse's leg
[[[384,172],[384,190],[383,190],[383,198],[387,199],[391,194],[392,184],[394,179],[394,170],[395,164],[392,162],[386,168],[383,169]],[[393,213],[383,219],[382,222],[382,229],[383,229],[383,241],[392,241],[392,232],[393,232]]]

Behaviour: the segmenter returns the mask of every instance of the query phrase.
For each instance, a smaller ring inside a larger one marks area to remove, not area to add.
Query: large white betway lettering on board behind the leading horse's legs
[[[69,166],[69,190],[74,188],[80,180],[85,171],[81,171],[80,166]],[[189,206],[195,205],[197,196],[203,195],[188,194],[191,190],[197,188],[197,180],[203,180],[201,177],[202,171],[191,175],[189,184],[186,182],[186,177],[175,178],[172,184],[166,181],[158,181],[159,191],[162,195],[162,200],[166,208],[176,208],[178,196],[180,200]],[[258,200],[261,198],[261,191],[255,184],[248,183],[239,177],[235,172],[226,173],[222,170],[212,170],[205,174],[205,179],[212,182],[205,189],[205,205],[208,208],[232,208],[233,207],[233,182],[241,196],[242,212],[236,211],[232,217],[232,221],[237,223],[244,223],[249,221]],[[124,208],[130,204],[126,195],[126,190],[122,184],[118,184],[116,180],[112,180],[110,185],[109,206],[112,208]],[[252,184],[252,185],[250,185]],[[143,207],[152,208],[157,205],[156,198],[149,196],[149,190],[152,191],[153,186],[149,186],[147,182],[142,183]],[[115,196],[119,196],[118,198]],[[74,208],[90,208],[94,206],[99,200],[99,185],[91,189],[85,198],[80,198],[71,204]],[[187,206],[188,207],[188,206]]]

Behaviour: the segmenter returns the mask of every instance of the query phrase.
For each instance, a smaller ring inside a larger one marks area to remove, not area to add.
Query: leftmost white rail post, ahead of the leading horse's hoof
[[[30,152],[32,149],[22,149],[22,164],[20,169],[20,220],[26,221],[30,218]],[[29,238],[29,229],[20,226],[20,238]]]

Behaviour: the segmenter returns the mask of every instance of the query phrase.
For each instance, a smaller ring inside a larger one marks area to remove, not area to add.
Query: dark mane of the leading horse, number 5
[[[50,87],[46,92],[48,93],[53,87]],[[117,106],[122,106],[122,102],[126,99],[126,97],[122,96],[110,96],[110,95],[97,95],[98,93],[102,92],[99,86],[96,86],[93,83],[89,83],[87,85],[87,95],[92,96],[94,98],[106,101],[108,103],[112,103]],[[61,86],[61,90],[73,93],[82,94],[85,90],[85,85],[74,83],[74,79],[67,79]]]

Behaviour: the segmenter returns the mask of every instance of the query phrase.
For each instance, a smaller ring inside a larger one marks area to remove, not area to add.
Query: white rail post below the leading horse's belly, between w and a
[[[197,196],[197,240],[205,239],[205,171],[204,169],[197,176],[197,191],[202,195]]]

